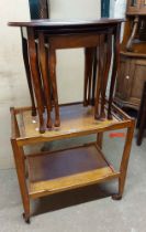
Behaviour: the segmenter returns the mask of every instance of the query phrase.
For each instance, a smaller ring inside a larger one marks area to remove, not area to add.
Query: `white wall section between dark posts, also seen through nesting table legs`
[[[52,19],[100,17],[100,0],[50,0]],[[78,102],[83,96],[83,50],[57,52],[59,102]]]

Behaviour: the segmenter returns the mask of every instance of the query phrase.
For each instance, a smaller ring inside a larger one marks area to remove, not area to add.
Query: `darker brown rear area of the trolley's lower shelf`
[[[53,180],[108,166],[94,145],[31,156],[27,160],[31,182]]]

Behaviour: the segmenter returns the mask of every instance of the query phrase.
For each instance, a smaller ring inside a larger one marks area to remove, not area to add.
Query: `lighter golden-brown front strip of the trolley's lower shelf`
[[[113,172],[110,167],[105,167],[52,181],[33,182],[30,184],[29,194],[31,198],[35,199],[69,189],[77,189],[83,186],[103,182],[119,177],[119,172]]]

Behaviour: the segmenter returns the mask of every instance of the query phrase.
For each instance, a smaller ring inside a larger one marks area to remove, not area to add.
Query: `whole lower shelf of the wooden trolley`
[[[117,178],[94,145],[27,156],[31,198]]]

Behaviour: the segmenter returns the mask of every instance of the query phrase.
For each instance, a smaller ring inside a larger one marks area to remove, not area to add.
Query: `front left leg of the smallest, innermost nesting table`
[[[55,126],[60,126],[59,119],[59,105],[58,105],[58,93],[57,93],[57,81],[56,81],[56,52],[49,44],[48,51],[48,70],[53,87],[53,98],[55,106]]]

